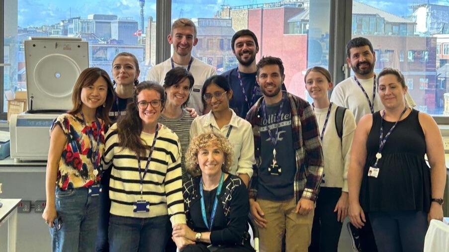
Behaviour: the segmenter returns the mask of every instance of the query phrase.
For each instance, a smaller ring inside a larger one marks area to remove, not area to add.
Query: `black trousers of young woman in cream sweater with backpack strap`
[[[312,241],[309,252],[337,252],[343,223],[337,221],[335,206],[342,188],[321,187],[313,217]]]

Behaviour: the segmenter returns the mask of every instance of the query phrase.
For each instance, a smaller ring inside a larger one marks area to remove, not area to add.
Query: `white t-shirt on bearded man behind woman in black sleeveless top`
[[[362,79],[358,80],[361,86],[363,86],[363,88],[365,89],[365,92],[368,95],[369,100],[371,101],[372,104],[373,102],[372,88],[374,84],[374,77],[365,80]],[[413,101],[413,98],[410,96],[408,92],[405,94],[405,99],[407,101],[407,104],[409,104],[409,106],[414,107],[416,105],[415,102]],[[356,80],[354,80],[354,76],[344,80],[343,82],[337,84],[334,87],[334,90],[332,91],[331,95],[331,102],[334,102],[339,106],[346,107],[349,110],[351,110],[351,112],[353,112],[356,118],[356,123],[359,123],[359,120],[362,116],[371,113],[368,100],[366,99],[366,96],[359,87],[359,85],[356,83]],[[383,109],[383,104],[380,101],[380,96],[376,88],[376,95],[374,99],[374,112],[377,112],[381,109]]]

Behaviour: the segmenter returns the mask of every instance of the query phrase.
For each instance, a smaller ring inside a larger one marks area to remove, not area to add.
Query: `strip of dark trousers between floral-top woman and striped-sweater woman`
[[[109,199],[109,178],[111,169],[104,171],[101,177],[100,209],[98,216],[98,231],[96,233],[95,250],[97,252],[109,252],[108,229],[111,209],[111,200]]]

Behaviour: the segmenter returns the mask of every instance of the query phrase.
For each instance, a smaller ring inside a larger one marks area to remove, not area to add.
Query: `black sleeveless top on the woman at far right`
[[[380,124],[385,136],[395,122],[382,122],[380,111],[373,114],[360,188],[360,204],[364,211],[429,211],[430,168],[424,160],[426,141],[418,113],[412,109],[388,137],[378,162],[380,170],[377,178],[368,177],[367,174],[376,161]]]

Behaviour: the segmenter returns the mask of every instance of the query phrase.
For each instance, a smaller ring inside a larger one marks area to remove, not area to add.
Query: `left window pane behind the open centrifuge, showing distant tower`
[[[11,66],[3,69],[3,92],[26,89],[23,41],[31,37],[82,38],[90,67],[109,74],[119,52],[136,55],[141,80],[156,63],[156,0],[5,0],[4,9],[3,60]]]

